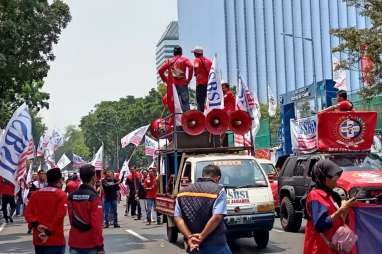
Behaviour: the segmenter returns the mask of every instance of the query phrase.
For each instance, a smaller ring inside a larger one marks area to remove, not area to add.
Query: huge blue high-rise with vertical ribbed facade
[[[331,53],[339,40],[330,29],[370,25],[343,0],[178,0],[178,22],[186,55],[195,45],[217,53],[223,78],[237,84],[240,73],[263,102],[267,85],[280,95],[312,84],[314,74],[332,79],[333,57],[345,56]],[[361,86],[358,71],[346,81],[349,91]]]

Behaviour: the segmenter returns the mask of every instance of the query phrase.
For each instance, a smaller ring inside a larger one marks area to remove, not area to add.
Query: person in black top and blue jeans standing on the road
[[[103,189],[103,206],[104,206],[104,216],[105,216],[105,228],[109,227],[109,216],[110,210],[113,216],[113,224],[115,228],[119,228],[118,225],[118,211],[117,211],[117,200],[119,181],[114,179],[114,173],[111,170],[106,171],[105,179],[102,180]]]

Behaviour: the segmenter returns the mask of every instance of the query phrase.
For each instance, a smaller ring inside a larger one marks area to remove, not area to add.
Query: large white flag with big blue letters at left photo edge
[[[26,161],[33,152],[32,119],[24,103],[12,115],[0,140],[0,176],[13,183],[26,173]]]

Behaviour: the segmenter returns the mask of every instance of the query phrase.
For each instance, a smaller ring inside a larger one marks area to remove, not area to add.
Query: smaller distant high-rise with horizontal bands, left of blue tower
[[[155,55],[157,70],[166,59],[169,59],[173,56],[174,47],[178,44],[178,22],[171,21],[156,46]],[[158,84],[162,82],[159,75],[157,75],[157,82]]]

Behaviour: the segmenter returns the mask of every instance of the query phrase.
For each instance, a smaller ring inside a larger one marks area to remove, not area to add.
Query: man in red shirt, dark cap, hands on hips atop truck
[[[186,76],[187,69],[188,76]],[[174,57],[166,61],[159,68],[159,76],[165,83],[167,83],[166,71],[172,72],[182,111],[186,112],[190,110],[188,84],[192,79],[193,66],[188,58],[182,56],[182,48],[180,46],[174,48]]]

